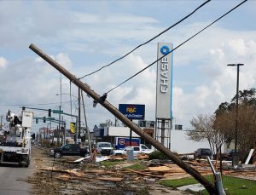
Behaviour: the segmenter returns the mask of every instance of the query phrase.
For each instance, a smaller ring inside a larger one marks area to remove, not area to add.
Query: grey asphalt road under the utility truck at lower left
[[[0,194],[1,195],[27,195],[32,194],[32,185],[26,180],[34,171],[34,163],[28,168],[16,164],[0,164]]]

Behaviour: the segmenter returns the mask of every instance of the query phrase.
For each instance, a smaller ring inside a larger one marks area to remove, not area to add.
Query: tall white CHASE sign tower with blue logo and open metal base
[[[172,129],[172,43],[158,43],[155,139],[171,149]],[[169,54],[170,53],[170,54]]]

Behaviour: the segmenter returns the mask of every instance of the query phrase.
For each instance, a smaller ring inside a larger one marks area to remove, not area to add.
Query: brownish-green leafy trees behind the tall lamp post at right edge
[[[255,147],[256,140],[256,89],[245,89],[238,94],[237,147],[242,154]],[[235,140],[236,95],[230,103],[224,102],[215,112],[215,127],[229,134],[230,141]]]

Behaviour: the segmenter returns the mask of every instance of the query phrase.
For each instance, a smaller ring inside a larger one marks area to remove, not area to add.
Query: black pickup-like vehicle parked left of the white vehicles
[[[89,155],[87,148],[80,146],[79,144],[66,144],[54,149],[54,157],[61,158],[62,156],[81,156],[85,157]]]

